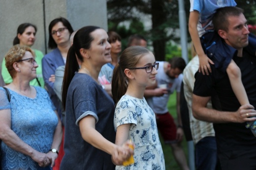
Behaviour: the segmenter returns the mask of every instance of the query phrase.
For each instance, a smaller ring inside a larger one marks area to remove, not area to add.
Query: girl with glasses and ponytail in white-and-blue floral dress
[[[116,170],[165,170],[156,117],[144,98],[146,86],[155,85],[159,63],[152,52],[128,47],[120,56],[112,79],[116,144],[135,143],[134,163]]]

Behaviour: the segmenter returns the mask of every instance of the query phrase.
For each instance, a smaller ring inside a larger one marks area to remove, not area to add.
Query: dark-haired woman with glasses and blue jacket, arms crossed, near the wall
[[[63,66],[66,63],[67,52],[71,46],[69,37],[72,32],[73,28],[65,18],[60,17],[51,21],[49,25],[48,48],[54,50],[45,55],[42,60],[43,78],[46,90],[48,91],[48,94],[61,119],[63,112],[62,104],[54,91],[55,71],[59,66]],[[63,155],[64,150],[62,143],[59,157],[55,162],[54,170],[59,170]]]

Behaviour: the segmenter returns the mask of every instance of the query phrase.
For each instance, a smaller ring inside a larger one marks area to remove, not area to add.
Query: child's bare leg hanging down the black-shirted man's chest
[[[231,60],[226,69],[231,87],[241,105],[249,104],[249,100],[241,80],[241,71],[236,63]]]

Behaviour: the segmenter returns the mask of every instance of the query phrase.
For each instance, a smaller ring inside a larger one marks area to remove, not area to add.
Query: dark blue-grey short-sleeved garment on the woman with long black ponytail
[[[87,115],[96,119],[96,130],[115,142],[114,102],[89,75],[76,73],[66,98],[64,157],[61,170],[114,170],[111,156],[81,136],[78,122]]]

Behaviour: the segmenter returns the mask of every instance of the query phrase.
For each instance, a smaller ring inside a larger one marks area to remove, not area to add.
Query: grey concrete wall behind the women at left
[[[107,30],[106,0],[0,0],[0,62],[11,48],[22,23],[37,27],[32,48],[48,53],[48,26],[58,17],[66,18],[73,29],[95,25]]]

